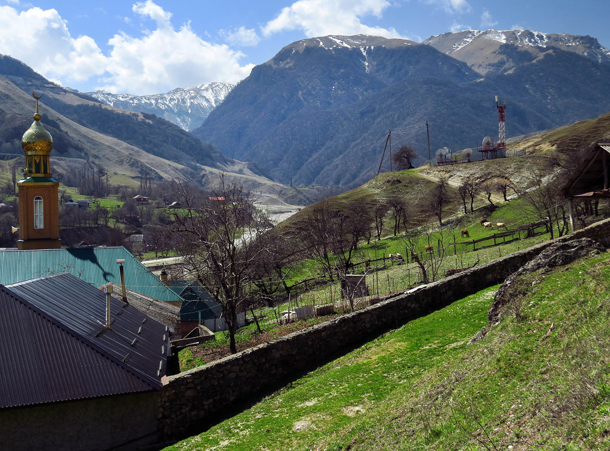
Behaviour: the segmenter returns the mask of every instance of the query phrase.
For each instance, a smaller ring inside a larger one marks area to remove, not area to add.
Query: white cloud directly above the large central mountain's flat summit
[[[387,0],[298,0],[268,21],[262,32],[265,36],[284,30],[303,30],[307,37],[368,34],[404,38],[392,27],[370,27],[361,22],[364,16],[381,17],[389,6]]]

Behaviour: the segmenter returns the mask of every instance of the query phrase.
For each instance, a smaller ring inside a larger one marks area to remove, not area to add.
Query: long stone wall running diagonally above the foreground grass
[[[584,236],[608,245],[610,219],[558,240],[567,241]],[[498,258],[478,268],[429,283],[414,293],[384,300],[171,376],[160,394],[160,438],[182,436],[193,425],[211,422],[215,412],[264,393],[291,375],[317,368],[336,353],[364,343],[371,336],[399,327],[411,319],[503,282],[509,274],[550,244],[542,243]]]

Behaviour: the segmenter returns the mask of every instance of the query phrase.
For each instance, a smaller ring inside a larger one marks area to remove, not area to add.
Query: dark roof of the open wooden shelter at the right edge
[[[610,169],[610,144],[598,144],[589,152],[583,163],[576,169],[570,180],[564,185],[565,197],[578,196],[581,194],[602,193],[604,188],[603,158]],[[596,197],[593,195],[592,197]],[[600,196],[607,197],[607,196]]]

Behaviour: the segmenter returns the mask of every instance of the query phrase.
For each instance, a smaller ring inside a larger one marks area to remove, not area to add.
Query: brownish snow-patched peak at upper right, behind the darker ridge
[[[429,37],[422,44],[464,61],[480,74],[506,73],[554,48],[610,63],[610,50],[596,38],[532,30],[463,30]]]

